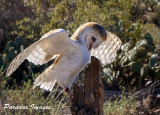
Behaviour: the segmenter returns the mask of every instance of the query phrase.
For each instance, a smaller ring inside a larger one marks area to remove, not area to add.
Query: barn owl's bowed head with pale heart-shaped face
[[[88,22],[80,26],[71,39],[85,43],[88,50],[97,48],[107,39],[107,32],[103,26],[95,22]]]

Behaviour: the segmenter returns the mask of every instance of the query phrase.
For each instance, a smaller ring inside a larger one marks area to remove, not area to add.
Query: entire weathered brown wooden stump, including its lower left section
[[[91,57],[84,86],[73,86],[72,115],[103,115],[103,85],[100,61]]]

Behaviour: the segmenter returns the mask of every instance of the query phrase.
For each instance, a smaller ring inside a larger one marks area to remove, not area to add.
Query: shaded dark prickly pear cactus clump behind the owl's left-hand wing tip
[[[23,50],[23,43],[23,38],[17,38],[15,41],[9,41],[7,43],[4,53],[0,54],[0,67],[3,67],[3,71],[6,71],[12,60]],[[11,79],[7,79],[6,86],[13,85],[15,83],[14,81],[16,81],[17,84],[21,84],[28,81],[28,79],[33,79],[32,75],[36,73],[37,70],[39,69],[34,64],[24,61],[20,65],[20,68],[11,75]]]

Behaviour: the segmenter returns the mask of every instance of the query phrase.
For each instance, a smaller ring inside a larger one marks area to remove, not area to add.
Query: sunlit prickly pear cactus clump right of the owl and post
[[[160,55],[155,49],[149,33],[139,40],[130,39],[121,46],[117,60],[111,64],[112,66],[106,65],[103,72],[108,79],[118,81],[120,86],[145,86],[147,81],[160,78]]]

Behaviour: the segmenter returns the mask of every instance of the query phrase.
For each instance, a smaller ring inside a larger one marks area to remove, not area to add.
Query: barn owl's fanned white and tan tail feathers
[[[48,67],[43,73],[41,73],[36,78],[36,80],[34,82],[33,89],[36,86],[40,86],[40,88],[42,88],[42,89],[52,91],[52,89],[57,81],[56,78],[54,79],[54,77],[52,76],[52,68],[53,68],[53,65]],[[50,78],[52,78],[52,79],[50,79]]]

